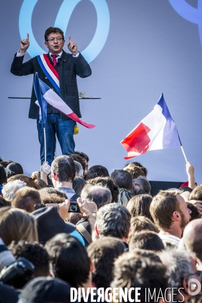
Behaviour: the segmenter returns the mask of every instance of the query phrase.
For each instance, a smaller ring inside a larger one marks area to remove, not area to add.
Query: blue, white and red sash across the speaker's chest
[[[57,70],[51,64],[47,54],[36,56],[39,65],[41,66],[43,72],[49,79],[49,81],[53,84],[54,88],[60,95],[60,83],[59,83],[59,74]]]

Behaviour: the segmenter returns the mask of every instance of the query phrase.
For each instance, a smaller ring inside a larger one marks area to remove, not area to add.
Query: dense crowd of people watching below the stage
[[[29,177],[0,160],[0,303],[202,302],[202,185],[189,162],[181,188],[152,197],[139,162],[109,175],[74,152]]]

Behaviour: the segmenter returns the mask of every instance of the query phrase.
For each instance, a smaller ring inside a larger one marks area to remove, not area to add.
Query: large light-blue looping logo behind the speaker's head
[[[20,15],[19,15],[19,30],[20,37],[24,39],[29,33],[30,47],[27,52],[31,57],[35,57],[39,54],[43,54],[45,51],[37,44],[32,27],[31,27],[31,16],[33,9],[38,0],[24,0]],[[64,0],[58,15],[55,20],[55,27],[63,29],[64,35],[66,33],[67,25],[71,14],[76,5],[82,0]],[[101,52],[105,45],[110,25],[109,9],[106,0],[90,0],[95,6],[97,12],[97,28],[95,35],[90,42],[89,46],[82,52],[82,55],[90,63],[92,62]]]

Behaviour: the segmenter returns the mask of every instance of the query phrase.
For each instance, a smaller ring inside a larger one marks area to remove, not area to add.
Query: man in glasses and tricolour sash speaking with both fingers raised
[[[38,73],[39,79],[45,82],[70,109],[80,118],[78,88],[76,75],[85,78],[91,75],[91,68],[77,46],[69,36],[68,54],[63,50],[65,44],[64,33],[60,28],[49,27],[45,32],[45,45],[49,50],[47,55],[36,56],[23,63],[26,50],[29,47],[29,34],[21,40],[20,50],[15,54],[11,72],[16,76],[26,76]],[[58,82],[57,82],[58,81]],[[29,118],[37,119],[38,139],[41,144],[41,162],[45,161],[44,129],[39,123],[39,107],[35,104],[36,96],[32,87]],[[49,165],[54,160],[56,148],[56,136],[58,138],[62,154],[69,155],[74,152],[74,126],[75,121],[48,104],[46,120],[46,150]]]

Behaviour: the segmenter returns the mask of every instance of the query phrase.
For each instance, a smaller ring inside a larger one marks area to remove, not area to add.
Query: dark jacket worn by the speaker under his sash
[[[48,57],[50,59],[49,54]],[[39,65],[36,57],[28,60],[25,63],[23,63],[23,58],[24,56],[16,57],[15,54],[13,63],[11,65],[12,74],[16,76],[26,76],[29,74],[35,75],[35,72],[38,72],[38,77],[47,85],[49,85],[49,87],[53,89],[56,94],[58,94],[52,83],[42,71],[41,66]],[[73,57],[72,54],[67,54],[63,51],[62,56],[59,58],[58,63],[56,65],[56,70],[59,74],[60,97],[79,118],[82,117],[79,108],[76,75],[82,78],[90,76],[92,72],[89,64],[84,59],[82,54],[79,54],[78,57]],[[36,96],[34,88],[32,87],[29,118],[39,119],[39,107],[35,104],[35,101]],[[47,112],[50,113],[58,111],[56,109],[52,109],[52,107],[48,104]],[[69,117],[62,113],[61,117],[64,119],[69,119]]]

